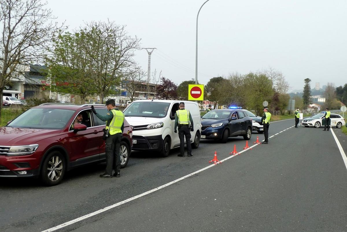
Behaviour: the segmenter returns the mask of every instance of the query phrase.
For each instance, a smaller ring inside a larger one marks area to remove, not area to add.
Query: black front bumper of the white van
[[[161,151],[163,148],[162,135],[141,136],[133,135],[133,150],[134,151]]]

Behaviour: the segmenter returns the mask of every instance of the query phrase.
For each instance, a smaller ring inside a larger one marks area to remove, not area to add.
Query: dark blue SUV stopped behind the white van
[[[252,119],[243,109],[214,109],[201,117],[201,139],[220,140],[226,143],[229,137],[252,136]]]

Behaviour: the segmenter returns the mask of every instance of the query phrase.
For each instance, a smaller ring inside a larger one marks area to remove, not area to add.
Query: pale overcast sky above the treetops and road
[[[142,47],[156,47],[151,71],[180,83],[195,79],[196,14],[205,0],[48,0],[70,29],[84,21],[127,25]],[[347,83],[347,1],[210,0],[200,11],[198,81],[275,68],[291,90],[304,79]],[[145,50],[135,60],[147,70]],[[256,83],[255,83],[256,85]]]

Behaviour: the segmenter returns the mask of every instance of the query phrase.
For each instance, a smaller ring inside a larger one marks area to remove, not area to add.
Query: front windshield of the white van
[[[133,102],[124,110],[126,117],[163,118],[168,113],[170,103],[155,101]]]

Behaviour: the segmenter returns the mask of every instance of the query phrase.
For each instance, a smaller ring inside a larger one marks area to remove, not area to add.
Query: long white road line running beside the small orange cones
[[[289,120],[289,119],[286,119],[286,120]],[[286,121],[286,120],[282,120],[282,121]],[[277,122],[279,122],[279,121],[277,121]],[[281,132],[283,132],[283,131],[281,131]],[[281,133],[281,132],[280,132],[280,133]],[[275,134],[275,135],[278,135],[278,134],[279,134],[279,133],[277,133],[277,134]],[[273,137],[273,136],[274,136],[274,135],[272,135],[271,137]],[[270,138],[271,138],[271,137],[270,137]],[[264,140],[263,140],[263,141],[264,141]],[[254,148],[254,147],[257,146],[257,145],[259,145],[259,144],[256,143],[256,144],[254,144],[253,146],[251,146],[250,148]],[[235,155],[230,155],[229,157],[227,157],[227,158],[225,158],[225,159],[223,159],[223,160],[220,160],[220,162],[223,162],[223,161],[226,161],[226,160],[228,160],[228,159],[231,159],[231,158],[235,157],[236,155],[238,155],[238,154],[240,154],[240,153],[243,153],[243,152],[245,152],[245,151],[248,151],[248,150],[250,150],[250,149],[245,149],[245,150],[242,150],[242,151],[238,152],[238,153],[235,154]],[[219,162],[217,162],[217,163],[219,163]],[[346,164],[346,165],[347,165],[347,164]],[[169,183],[167,183],[167,184],[164,184],[164,185],[159,186],[159,187],[156,187],[156,188],[154,188],[154,189],[152,189],[152,190],[146,191],[145,193],[139,194],[139,195],[134,196],[134,197],[130,197],[130,198],[128,198],[128,199],[126,199],[126,200],[123,200],[123,201],[121,201],[121,202],[118,202],[118,203],[116,203],[116,204],[107,206],[107,207],[105,207],[105,208],[103,208],[103,209],[99,209],[98,211],[92,212],[92,213],[90,213],[90,214],[86,214],[86,215],[81,216],[81,217],[78,217],[78,218],[76,218],[76,219],[74,219],[74,220],[71,220],[71,221],[65,222],[65,223],[63,223],[63,224],[54,226],[54,227],[52,227],[52,228],[50,228],[50,229],[47,229],[47,230],[44,230],[44,231],[42,231],[42,232],[51,232],[51,231],[59,230],[59,229],[64,228],[64,227],[66,227],[66,226],[68,226],[68,225],[71,225],[71,224],[74,224],[74,223],[76,223],[76,222],[82,221],[82,220],[84,220],[84,219],[86,219],[86,218],[95,216],[95,215],[100,214],[100,213],[102,213],[102,212],[108,211],[109,209],[115,208],[115,207],[117,207],[117,206],[120,206],[120,205],[122,205],[122,204],[125,204],[125,203],[127,203],[127,202],[130,202],[130,201],[135,200],[135,199],[137,199],[137,198],[143,197],[143,196],[145,196],[145,195],[148,195],[148,194],[150,194],[150,193],[153,193],[153,192],[155,192],[155,191],[158,191],[159,189],[165,188],[165,187],[167,187],[167,186],[169,186],[169,185],[175,184],[175,183],[178,182],[178,181],[181,181],[181,180],[183,180],[183,179],[186,179],[186,178],[188,178],[188,177],[190,177],[190,176],[193,176],[193,175],[195,175],[195,174],[197,174],[197,173],[199,173],[199,172],[202,172],[202,171],[204,171],[204,170],[206,170],[206,169],[209,169],[209,168],[212,168],[212,167],[214,167],[214,166],[215,166],[215,164],[211,164],[211,165],[209,165],[209,166],[207,166],[207,167],[205,167],[205,168],[202,168],[202,169],[200,169],[200,170],[197,170],[197,171],[195,171],[195,172],[192,172],[192,173],[190,173],[190,174],[188,174],[188,175],[186,175],[186,176],[184,176],[184,177],[178,178],[178,179],[176,179],[176,180],[174,180],[174,181],[171,181],[171,182],[169,182]],[[346,167],[347,167],[347,166],[346,166]]]

